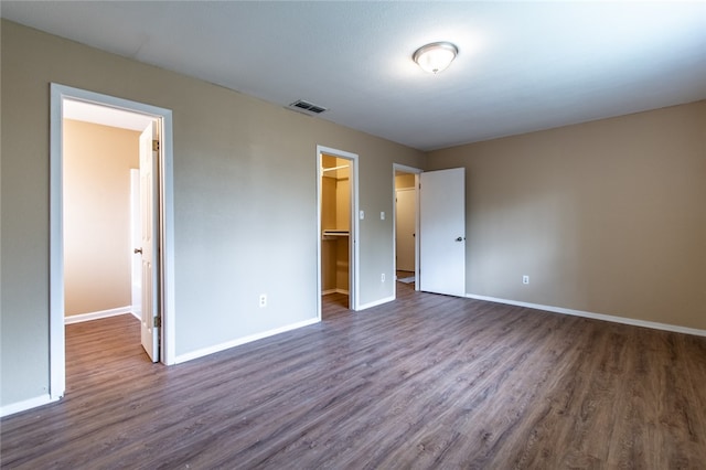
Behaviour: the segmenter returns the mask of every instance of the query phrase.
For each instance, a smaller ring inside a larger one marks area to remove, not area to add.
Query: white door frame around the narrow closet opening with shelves
[[[321,320],[321,178],[323,154],[351,161],[351,226],[349,233],[349,308],[357,310],[360,306],[359,292],[359,201],[357,201],[357,154],[330,147],[317,146],[317,296],[318,318]]]

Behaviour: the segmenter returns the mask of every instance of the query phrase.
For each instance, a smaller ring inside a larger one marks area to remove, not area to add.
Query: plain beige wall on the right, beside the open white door
[[[706,102],[428,163],[467,169],[469,293],[706,329]]]

